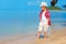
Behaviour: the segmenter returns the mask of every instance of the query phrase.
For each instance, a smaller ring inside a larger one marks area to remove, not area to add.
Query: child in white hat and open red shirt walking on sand
[[[37,38],[40,38],[40,34],[44,28],[44,37],[47,37],[47,29],[51,25],[51,14],[48,9],[46,8],[46,2],[42,2],[41,6],[42,11],[40,13],[40,26],[37,32]]]

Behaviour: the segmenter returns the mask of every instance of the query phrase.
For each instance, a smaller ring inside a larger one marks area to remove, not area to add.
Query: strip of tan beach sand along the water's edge
[[[36,40],[36,34],[0,41],[0,44],[66,44],[66,29],[53,30],[48,38]]]

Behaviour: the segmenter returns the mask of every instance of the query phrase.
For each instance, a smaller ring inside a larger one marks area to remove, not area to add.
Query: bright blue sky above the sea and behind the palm
[[[0,9],[26,9],[26,7],[36,7],[42,0],[0,0]],[[51,0],[43,0],[50,4]],[[66,4],[66,0],[58,0],[56,6],[61,7]]]

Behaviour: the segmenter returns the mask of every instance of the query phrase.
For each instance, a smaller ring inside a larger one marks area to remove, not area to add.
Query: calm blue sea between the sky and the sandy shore
[[[50,11],[54,29],[66,28],[66,11]],[[38,29],[40,11],[0,11],[0,37],[36,33]]]

